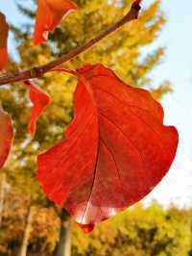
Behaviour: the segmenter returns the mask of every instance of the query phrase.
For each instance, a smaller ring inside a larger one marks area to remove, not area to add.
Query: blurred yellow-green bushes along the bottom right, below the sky
[[[137,205],[102,223],[90,236],[74,226],[72,255],[187,256],[191,249],[191,213],[154,202]]]

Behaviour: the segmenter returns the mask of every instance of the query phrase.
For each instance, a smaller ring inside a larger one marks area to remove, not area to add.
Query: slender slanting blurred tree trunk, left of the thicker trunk
[[[23,241],[22,241],[20,252],[19,252],[18,256],[27,256],[28,242],[29,242],[30,233],[32,230],[32,216],[33,216],[33,207],[29,206],[28,214],[26,217]]]

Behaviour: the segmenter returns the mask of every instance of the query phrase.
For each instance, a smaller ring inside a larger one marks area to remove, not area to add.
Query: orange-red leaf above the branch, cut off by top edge
[[[62,18],[76,10],[77,6],[70,0],[37,0],[34,44],[45,42]]]

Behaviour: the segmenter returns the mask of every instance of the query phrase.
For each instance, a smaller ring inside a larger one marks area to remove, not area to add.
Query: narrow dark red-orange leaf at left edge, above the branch
[[[8,32],[9,25],[6,22],[6,16],[0,13],[0,70],[2,70],[8,62]]]

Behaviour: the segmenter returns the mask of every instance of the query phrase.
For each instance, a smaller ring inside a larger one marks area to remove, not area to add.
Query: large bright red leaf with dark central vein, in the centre
[[[178,132],[147,90],[123,83],[103,66],[84,66],[75,117],[63,139],[38,156],[48,197],[90,231],[151,192],[170,168]]]

